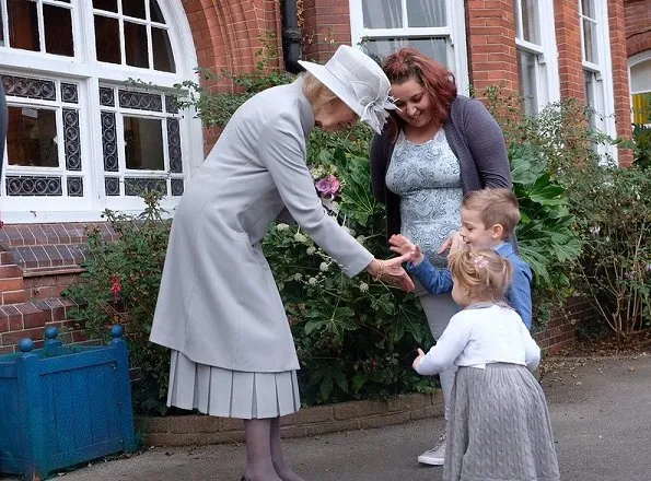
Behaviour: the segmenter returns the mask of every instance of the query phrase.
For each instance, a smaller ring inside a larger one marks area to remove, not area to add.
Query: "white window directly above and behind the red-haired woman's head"
[[[456,0],[350,0],[353,45],[379,62],[411,46],[454,72],[468,91],[464,2]]]

